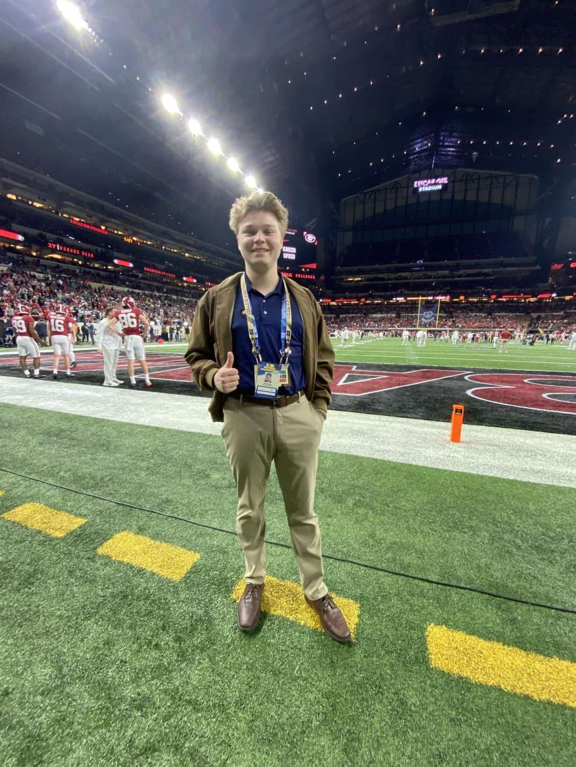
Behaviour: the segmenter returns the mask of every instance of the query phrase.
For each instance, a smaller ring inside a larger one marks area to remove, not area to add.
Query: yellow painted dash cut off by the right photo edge
[[[426,628],[426,644],[432,668],[508,693],[576,708],[576,663],[434,624]]]

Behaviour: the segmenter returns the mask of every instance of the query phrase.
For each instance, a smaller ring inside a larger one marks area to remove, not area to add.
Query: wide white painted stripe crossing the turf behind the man
[[[191,384],[190,384],[191,385]],[[3,377],[0,402],[144,426],[220,435],[207,398]],[[414,466],[576,487],[576,436],[331,410],[320,449]],[[465,493],[465,488],[462,488]]]

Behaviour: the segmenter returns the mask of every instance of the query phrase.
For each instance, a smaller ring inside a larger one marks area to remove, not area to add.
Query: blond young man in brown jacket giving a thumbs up
[[[314,513],[318,446],[331,399],[334,352],[312,293],[278,273],[288,211],[272,193],[240,197],[230,211],[245,272],[210,288],[197,306],[186,353],[222,436],[238,492],[237,532],[246,588],[238,628],[260,617],[266,576],[264,500],[274,461],[304,598],[339,642],[350,632],[323,580]]]

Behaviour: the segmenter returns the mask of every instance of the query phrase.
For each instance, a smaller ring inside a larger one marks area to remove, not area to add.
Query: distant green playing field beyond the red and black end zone
[[[498,370],[554,370],[561,373],[576,373],[576,351],[569,351],[565,344],[544,344],[538,341],[535,346],[522,346],[511,341],[508,354],[500,354],[492,344],[445,344],[442,341],[428,339],[425,347],[417,347],[415,341],[402,346],[401,338],[349,340],[343,347],[339,338],[333,338],[333,347],[337,362],[371,363],[394,365],[425,365],[439,367],[477,367],[496,368]],[[166,354],[184,354],[187,344],[151,344],[151,351]]]

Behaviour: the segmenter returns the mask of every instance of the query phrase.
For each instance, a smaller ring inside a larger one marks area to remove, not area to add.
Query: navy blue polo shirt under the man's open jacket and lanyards
[[[282,324],[282,299],[284,295],[284,281],[278,280],[276,288],[268,295],[262,295],[250,284],[246,276],[246,287],[252,304],[254,321],[258,330],[258,343],[263,362],[280,362],[280,330]],[[306,389],[306,374],[302,364],[302,351],[304,341],[304,324],[300,309],[293,295],[290,295],[292,308],[292,339],[290,341],[290,387],[280,387],[279,397],[286,394],[295,394],[300,389]],[[248,324],[243,316],[244,302],[240,281],[234,301],[232,314],[232,347],[234,354],[234,367],[240,374],[240,386],[238,391],[253,397],[254,394],[254,355],[252,354],[252,342],[248,335]]]

